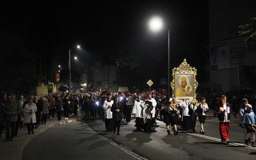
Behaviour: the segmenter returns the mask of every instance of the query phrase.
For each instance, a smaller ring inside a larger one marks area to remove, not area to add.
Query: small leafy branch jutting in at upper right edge
[[[256,17],[252,18],[248,24],[239,26],[242,31],[239,31],[239,35],[248,36],[247,40],[256,40]]]

